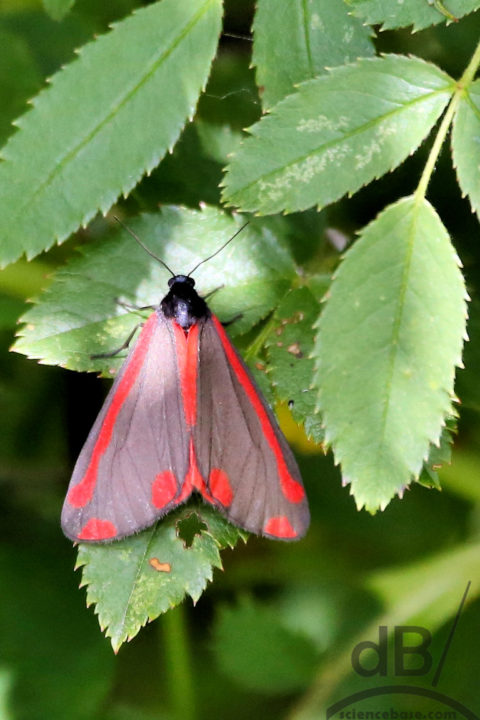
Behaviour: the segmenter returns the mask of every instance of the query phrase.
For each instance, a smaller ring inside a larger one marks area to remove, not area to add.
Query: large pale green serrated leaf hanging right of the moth
[[[461,365],[466,291],[448,233],[405,198],[365,228],[320,316],[319,406],[357,506],[384,508],[440,440]]]

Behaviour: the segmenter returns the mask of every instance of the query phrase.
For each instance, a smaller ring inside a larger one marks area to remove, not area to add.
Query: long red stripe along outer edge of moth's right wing
[[[265,435],[267,442],[272,448],[273,454],[275,455],[282,492],[287,498],[287,500],[289,500],[289,502],[299,503],[305,497],[305,490],[303,489],[302,484],[290,475],[287,463],[285,462],[285,458],[283,457],[282,448],[280,447],[280,443],[278,442],[278,438],[275,434],[275,429],[270,422],[265,408],[263,407],[263,403],[260,400],[257,389],[248,377],[248,374],[242,363],[240,362],[238,355],[235,352],[233,345],[228,338],[227,333],[223,329],[221,322],[218,320],[218,318],[215,317],[215,315],[212,315],[212,320],[218,332],[220,340],[222,341],[223,349],[225,350],[228,361],[230,362],[230,365],[232,366],[239,383],[245,390],[247,397],[250,400],[258,419],[260,420],[263,434]],[[272,533],[272,535],[273,534],[275,533]]]

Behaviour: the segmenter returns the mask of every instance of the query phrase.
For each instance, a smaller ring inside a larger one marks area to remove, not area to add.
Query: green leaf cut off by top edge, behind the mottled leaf
[[[265,108],[294,86],[325,72],[375,54],[372,31],[335,0],[259,0],[253,24],[253,64],[263,88]]]

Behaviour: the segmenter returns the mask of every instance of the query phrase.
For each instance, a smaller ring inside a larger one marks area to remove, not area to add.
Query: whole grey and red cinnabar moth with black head
[[[309,510],[292,451],[193,278],[171,274],[77,460],[62,529],[118,540],[197,491],[234,525],[298,539]]]

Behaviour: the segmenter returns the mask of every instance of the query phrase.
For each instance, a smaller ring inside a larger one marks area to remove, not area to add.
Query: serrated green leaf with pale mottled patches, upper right
[[[452,90],[437,67],[401,55],[305,82],[250,128],[228,168],[224,198],[268,214],[353,193],[418,147]]]

